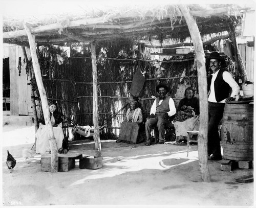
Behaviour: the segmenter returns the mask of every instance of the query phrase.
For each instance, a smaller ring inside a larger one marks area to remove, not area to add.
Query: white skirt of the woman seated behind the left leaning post
[[[59,126],[53,127],[53,135],[55,138],[55,142],[57,144],[57,148],[58,149],[61,148],[62,141],[64,138],[62,128]],[[36,136],[36,146],[35,146],[36,153],[44,154],[46,150],[50,150],[48,129],[46,128],[45,125],[42,125],[37,129],[35,136]]]

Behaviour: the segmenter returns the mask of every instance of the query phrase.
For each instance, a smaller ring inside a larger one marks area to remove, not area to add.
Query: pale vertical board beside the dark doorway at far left
[[[10,65],[10,110],[11,115],[18,115],[18,70],[17,70],[17,46],[9,48],[9,65]]]

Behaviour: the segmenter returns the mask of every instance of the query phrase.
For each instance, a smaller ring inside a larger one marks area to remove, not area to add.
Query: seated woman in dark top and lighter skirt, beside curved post
[[[178,105],[173,124],[176,142],[187,141],[187,131],[199,130],[199,100],[192,87],[185,89],[185,98]]]

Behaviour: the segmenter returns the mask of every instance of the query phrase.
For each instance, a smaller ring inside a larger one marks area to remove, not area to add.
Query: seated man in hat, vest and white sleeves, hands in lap
[[[145,123],[146,129],[146,145],[151,145],[151,128],[157,124],[159,131],[159,144],[164,144],[164,125],[169,123],[168,119],[176,113],[174,101],[169,96],[166,96],[168,87],[165,85],[158,85],[156,87],[158,98],[154,101],[150,110],[150,119]]]

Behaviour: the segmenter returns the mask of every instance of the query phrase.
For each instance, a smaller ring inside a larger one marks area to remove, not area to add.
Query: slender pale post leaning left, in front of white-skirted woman
[[[26,22],[23,22],[24,29],[27,32],[29,39],[29,46],[31,51],[31,58],[33,62],[33,68],[35,73],[35,79],[38,86],[41,103],[42,103],[42,112],[44,112],[44,118],[46,123],[46,128],[48,129],[48,137],[51,148],[51,172],[58,172],[58,148],[55,142],[55,138],[53,135],[53,128],[50,122],[50,114],[49,114],[49,106],[47,102],[46,90],[44,84],[42,83],[42,76],[40,72],[40,65],[38,62],[38,58],[36,55],[36,42],[35,36],[31,34],[30,29],[27,27]]]

